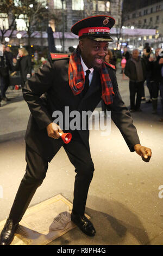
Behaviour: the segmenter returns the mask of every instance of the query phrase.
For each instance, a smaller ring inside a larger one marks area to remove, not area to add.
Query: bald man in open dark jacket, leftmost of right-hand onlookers
[[[132,57],[126,63],[124,74],[129,77],[130,90],[130,112],[142,111],[140,109],[143,83],[145,81],[146,66],[143,59],[139,56],[139,50],[134,49]],[[136,104],[135,104],[135,94]]]

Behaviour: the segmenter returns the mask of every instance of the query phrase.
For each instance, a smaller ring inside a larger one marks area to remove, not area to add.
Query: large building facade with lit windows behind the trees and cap
[[[122,14],[122,0],[38,0],[45,4],[47,10],[55,15],[57,19],[49,20],[49,25],[52,27],[55,38],[55,45],[59,51],[63,51],[63,33],[64,32],[64,50],[68,51],[68,47],[76,46],[78,44],[78,37],[73,36],[71,27],[77,21],[84,19],[87,16],[93,15],[110,15],[116,20],[116,26],[121,23]],[[16,3],[16,2],[15,2]],[[22,44],[26,46],[27,40],[27,27],[24,20],[26,17],[22,14],[15,20],[16,30],[10,37],[10,31],[5,33],[5,38],[9,38],[10,45]],[[10,24],[10,17],[7,14],[0,14],[0,27],[4,26],[6,29]],[[63,31],[64,25],[64,31]],[[47,25],[48,26],[48,25]],[[21,39],[16,37],[17,33],[21,33]],[[1,35],[1,32],[0,32]],[[44,31],[35,31],[31,38],[32,45],[48,46],[46,29]]]

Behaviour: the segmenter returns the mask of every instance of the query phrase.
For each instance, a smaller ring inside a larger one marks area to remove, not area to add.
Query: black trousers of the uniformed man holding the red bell
[[[87,193],[94,171],[91,154],[82,139],[79,138],[79,135],[77,139],[72,139],[70,144],[64,144],[64,149],[77,172],[74,182],[73,212],[84,215]],[[47,160],[39,156],[27,144],[26,162],[26,174],[20,183],[9,215],[9,218],[13,219],[15,223],[21,221],[37,187],[43,182],[48,169]]]

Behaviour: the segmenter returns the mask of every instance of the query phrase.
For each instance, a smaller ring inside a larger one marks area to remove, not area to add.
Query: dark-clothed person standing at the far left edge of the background
[[[6,97],[5,92],[7,91],[10,85],[9,70],[12,70],[12,66],[6,54],[4,44],[2,44],[2,51],[3,51],[3,55],[0,56],[0,86],[1,86],[0,87],[1,88],[0,106],[1,106],[1,100],[5,100],[5,102],[10,100],[9,98]]]

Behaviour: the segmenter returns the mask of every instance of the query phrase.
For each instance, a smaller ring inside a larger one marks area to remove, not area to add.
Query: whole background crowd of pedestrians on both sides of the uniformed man
[[[9,85],[18,84],[24,87],[27,79],[32,75],[32,60],[25,48],[18,49],[16,57],[10,51],[10,47],[2,44],[3,55],[0,56],[0,106],[1,101],[8,102],[10,98],[6,96]],[[74,49],[73,49],[74,50]],[[158,96],[161,97],[162,117],[159,121],[163,121],[163,50],[160,48],[152,52],[151,47],[146,45],[143,49],[143,55],[140,51],[134,49],[132,53],[124,47],[121,59],[122,79],[129,78],[130,93],[130,112],[142,111],[141,102],[146,100],[145,85],[149,91],[149,100],[146,103],[152,104],[152,113],[157,114]],[[45,60],[45,59],[44,59]],[[111,50],[105,56],[105,62],[115,66],[116,70],[117,58]],[[42,62],[43,63],[43,62]],[[18,72],[18,73],[17,73]],[[128,77],[128,78],[127,78]],[[136,97],[136,99],[135,99]],[[106,113],[105,104],[102,100],[102,110]]]

